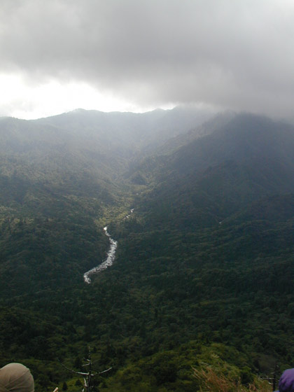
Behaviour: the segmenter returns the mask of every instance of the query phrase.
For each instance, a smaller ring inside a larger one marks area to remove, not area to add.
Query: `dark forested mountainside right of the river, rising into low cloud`
[[[156,309],[144,336],[232,345],[259,372],[294,360],[293,147],[293,127],[245,114],[141,167],[153,190],[111,229],[113,273]]]

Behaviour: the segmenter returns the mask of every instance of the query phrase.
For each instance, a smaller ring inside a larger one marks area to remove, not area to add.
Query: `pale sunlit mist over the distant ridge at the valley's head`
[[[95,139],[106,151],[131,158],[138,151],[152,150],[168,139],[188,132],[214,116],[215,110],[195,106],[178,106],[171,110],[157,109],[147,113],[103,113],[77,109],[69,113],[35,120],[83,134],[88,142]]]

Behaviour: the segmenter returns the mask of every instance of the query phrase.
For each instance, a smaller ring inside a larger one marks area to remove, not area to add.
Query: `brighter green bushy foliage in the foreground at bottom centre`
[[[248,372],[246,358],[236,349],[190,342],[130,363],[106,379],[101,391],[197,391],[203,380],[195,377],[195,370],[209,368],[223,372],[235,385],[248,386],[255,380]]]

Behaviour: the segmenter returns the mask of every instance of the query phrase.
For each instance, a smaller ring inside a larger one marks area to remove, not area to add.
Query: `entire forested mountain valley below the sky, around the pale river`
[[[79,391],[58,358],[88,346],[96,391],[266,391],[293,366],[294,127],[78,110],[2,118],[0,142],[1,363],[36,390]]]

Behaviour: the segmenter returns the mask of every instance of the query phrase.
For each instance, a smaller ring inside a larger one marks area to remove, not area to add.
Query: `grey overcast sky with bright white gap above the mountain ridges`
[[[195,103],[292,116],[293,0],[0,0],[0,116]]]

